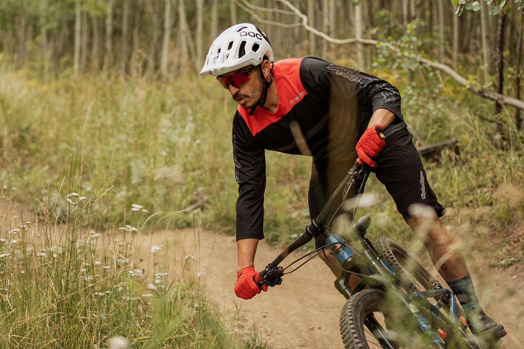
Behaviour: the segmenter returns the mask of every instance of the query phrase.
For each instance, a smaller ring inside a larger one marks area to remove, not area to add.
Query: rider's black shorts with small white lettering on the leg
[[[393,197],[397,210],[405,220],[410,218],[408,207],[423,204],[435,210],[439,217],[445,213],[428,184],[420,155],[411,141],[413,135],[403,128],[386,137],[386,145],[374,158],[377,164],[371,169]],[[333,161],[313,158],[309,183],[309,214],[311,218],[320,211],[347,172],[353,167],[351,161]],[[322,235],[315,239],[315,248],[323,246]]]

